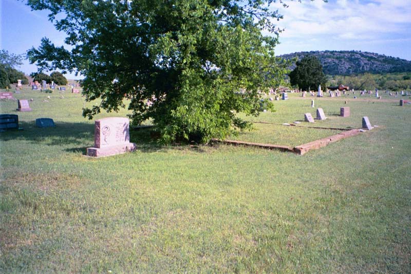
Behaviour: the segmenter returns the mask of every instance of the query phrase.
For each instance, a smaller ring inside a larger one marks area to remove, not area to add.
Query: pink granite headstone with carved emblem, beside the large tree
[[[94,148],[87,148],[87,156],[103,157],[136,150],[136,144],[130,143],[127,118],[96,120],[94,129]]]

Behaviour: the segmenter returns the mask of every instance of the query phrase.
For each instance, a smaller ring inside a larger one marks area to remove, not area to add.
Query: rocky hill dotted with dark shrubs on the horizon
[[[363,74],[364,72],[384,74],[411,71],[411,61],[356,50],[302,51],[284,54],[280,57],[285,59],[297,57],[298,60],[301,60],[304,56],[317,57],[323,65],[324,73],[327,75],[352,75]],[[295,64],[292,69],[294,67]]]

